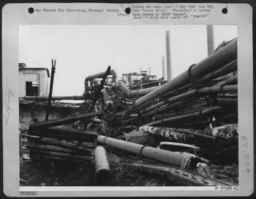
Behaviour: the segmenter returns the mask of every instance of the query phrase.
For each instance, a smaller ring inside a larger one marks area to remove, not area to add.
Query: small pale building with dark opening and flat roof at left
[[[48,96],[49,77],[47,68],[28,68],[19,63],[19,97]]]

